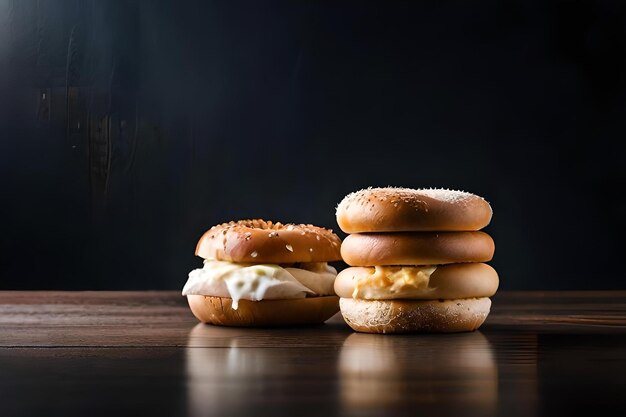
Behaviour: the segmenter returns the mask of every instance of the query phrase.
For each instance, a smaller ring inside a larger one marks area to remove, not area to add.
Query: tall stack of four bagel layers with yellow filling
[[[368,188],[347,195],[337,223],[350,265],[335,280],[341,313],[367,333],[460,332],[487,318],[499,279],[483,198],[447,189]]]

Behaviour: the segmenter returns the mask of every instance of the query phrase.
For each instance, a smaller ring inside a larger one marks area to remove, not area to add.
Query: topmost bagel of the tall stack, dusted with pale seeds
[[[346,233],[473,231],[487,226],[491,215],[482,197],[444,189],[368,188],[337,206]]]

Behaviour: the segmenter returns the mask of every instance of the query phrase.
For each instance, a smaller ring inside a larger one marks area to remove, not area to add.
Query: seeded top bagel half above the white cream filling
[[[196,255],[229,262],[328,262],[341,259],[340,246],[339,236],[322,227],[240,220],[209,229]]]

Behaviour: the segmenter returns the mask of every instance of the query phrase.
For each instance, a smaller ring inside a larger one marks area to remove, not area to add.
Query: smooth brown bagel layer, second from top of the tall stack
[[[356,233],[341,245],[351,266],[487,262],[495,244],[484,232]]]

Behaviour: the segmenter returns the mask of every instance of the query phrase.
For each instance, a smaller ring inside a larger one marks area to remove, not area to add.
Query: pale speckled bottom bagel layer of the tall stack
[[[363,333],[452,333],[476,330],[487,318],[491,300],[360,300],[341,298],[341,314]]]

